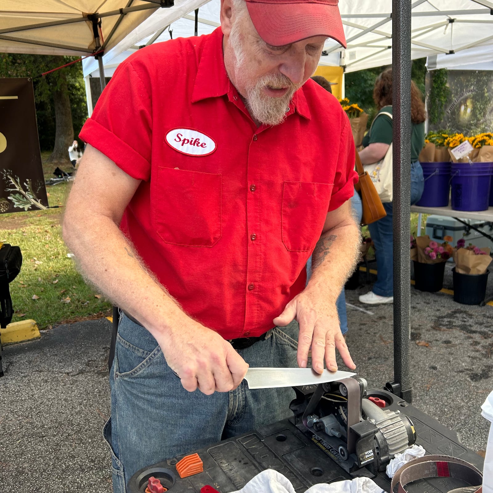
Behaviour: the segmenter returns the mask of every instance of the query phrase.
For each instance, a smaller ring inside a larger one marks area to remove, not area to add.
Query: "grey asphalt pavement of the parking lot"
[[[452,288],[450,267],[446,288]],[[357,296],[369,288],[347,291],[347,302],[357,307],[348,307],[347,343],[358,374],[382,388],[393,378],[393,308],[361,305]],[[480,406],[493,389],[492,316],[492,306],[460,305],[448,294],[411,288],[413,403],[480,453],[489,431]],[[101,432],[109,416],[110,331],[107,319],[83,321],[4,348],[0,492],[111,492]]]

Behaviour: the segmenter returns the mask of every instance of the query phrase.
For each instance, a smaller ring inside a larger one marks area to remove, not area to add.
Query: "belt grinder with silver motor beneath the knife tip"
[[[385,471],[395,454],[416,442],[411,419],[398,409],[386,409],[386,400],[366,395],[363,378],[346,378],[317,386],[315,392],[294,387],[296,399],[289,406],[294,424],[324,440],[348,473],[366,466]]]

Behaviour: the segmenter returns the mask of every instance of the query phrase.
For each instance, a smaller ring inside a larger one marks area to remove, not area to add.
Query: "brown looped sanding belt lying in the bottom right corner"
[[[473,490],[475,493],[482,491],[481,471],[465,460],[450,456],[424,456],[409,461],[395,473],[390,491],[393,492],[398,484],[398,493],[407,493],[405,486],[412,481],[424,478],[461,479],[475,486]]]

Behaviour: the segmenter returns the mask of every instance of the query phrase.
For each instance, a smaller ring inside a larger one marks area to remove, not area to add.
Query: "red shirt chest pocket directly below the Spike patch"
[[[222,175],[158,168],[153,222],[165,243],[214,246],[221,230]]]

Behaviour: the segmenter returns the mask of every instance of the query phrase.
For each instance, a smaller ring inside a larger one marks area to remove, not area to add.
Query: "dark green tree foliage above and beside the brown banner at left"
[[[41,150],[53,149],[55,142],[53,93],[63,87],[62,77],[67,79],[75,135],[78,135],[87,118],[86,93],[81,63],[72,64],[42,77],[39,76],[43,72],[75,60],[78,58],[0,53],[0,77],[33,78]]]

